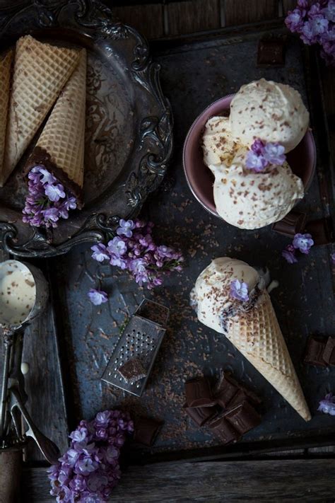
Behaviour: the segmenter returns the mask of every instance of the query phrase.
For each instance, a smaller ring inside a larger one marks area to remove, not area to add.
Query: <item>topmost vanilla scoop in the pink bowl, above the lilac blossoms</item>
[[[231,133],[247,146],[259,138],[278,141],[289,152],[304,137],[309,120],[298,91],[265,79],[242,86],[230,103]]]

